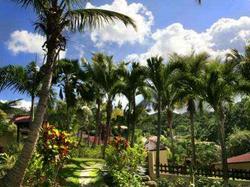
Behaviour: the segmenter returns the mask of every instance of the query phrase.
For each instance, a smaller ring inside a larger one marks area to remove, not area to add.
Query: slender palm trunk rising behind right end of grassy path
[[[104,145],[103,145],[103,153],[102,153],[103,158],[105,158],[105,151],[106,151],[109,136],[110,136],[110,122],[111,122],[111,114],[112,114],[112,100],[110,96],[108,97],[106,112],[107,112],[107,121],[106,121],[106,134],[104,136]]]

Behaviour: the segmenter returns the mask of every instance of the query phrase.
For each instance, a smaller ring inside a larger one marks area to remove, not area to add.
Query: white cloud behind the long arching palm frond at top
[[[126,27],[121,22],[105,24],[102,28],[91,32],[91,39],[96,46],[101,47],[107,42],[134,44],[143,43],[145,38],[151,34],[153,14],[141,3],[128,4],[126,0],[114,0],[112,4],[94,7],[87,3],[87,8],[102,8],[112,10],[130,16],[137,25],[137,31],[131,26]]]

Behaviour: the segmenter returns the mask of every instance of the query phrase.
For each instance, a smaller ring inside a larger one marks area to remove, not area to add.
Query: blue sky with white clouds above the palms
[[[87,8],[99,7],[125,13],[137,24],[137,31],[120,23],[105,25],[91,33],[68,34],[62,57],[91,58],[102,51],[122,59],[139,60],[169,54],[208,51],[223,56],[230,48],[242,51],[250,38],[250,0],[92,0]],[[0,0],[0,66],[42,63],[44,37],[35,33],[36,16],[11,0]],[[28,96],[6,90],[0,100]]]

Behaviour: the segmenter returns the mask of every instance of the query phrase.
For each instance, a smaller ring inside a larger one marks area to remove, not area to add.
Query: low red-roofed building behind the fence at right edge
[[[229,169],[244,169],[250,171],[250,152],[227,159]],[[215,168],[221,169],[221,162],[214,164]]]

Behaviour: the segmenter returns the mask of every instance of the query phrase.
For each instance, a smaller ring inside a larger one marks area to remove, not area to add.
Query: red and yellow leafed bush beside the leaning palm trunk
[[[65,132],[52,125],[44,127],[37,152],[33,155],[27,169],[25,185],[56,186],[58,171],[69,158],[73,143]]]

